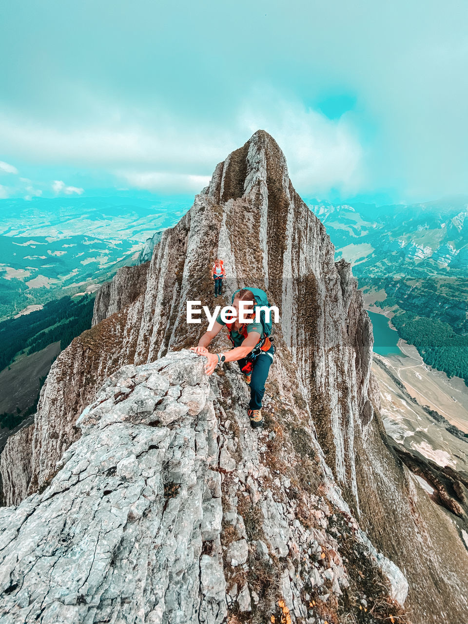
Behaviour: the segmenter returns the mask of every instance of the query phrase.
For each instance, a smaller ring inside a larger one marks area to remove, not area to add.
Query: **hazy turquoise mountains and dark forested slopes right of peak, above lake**
[[[366,305],[383,308],[427,364],[468,384],[468,202],[311,203]]]

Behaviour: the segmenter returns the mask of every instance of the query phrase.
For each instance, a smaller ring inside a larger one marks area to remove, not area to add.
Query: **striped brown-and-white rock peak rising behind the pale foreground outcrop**
[[[466,619],[468,564],[458,525],[415,484],[387,442],[379,415],[378,385],[371,374],[371,324],[361,293],[350,266],[344,261],[334,263],[333,245],[323,225],[295,192],[281,150],[263,131],[217,166],[210,185],[195,197],[190,211],[163,232],[149,263],[135,268],[135,276],[145,271],[145,280],[135,277],[130,297],[125,298],[119,286],[124,274],[115,278],[114,286],[103,287],[95,309],[99,322],[76,338],[52,365],[34,425],[29,494],[44,489],[62,454],[72,442],[79,444],[76,419],[95,400],[109,374],[125,365],[147,366],[168,351],[180,351],[197,341],[205,328],[186,324],[185,301],[201,300],[213,308],[209,268],[217,256],[225,260],[226,291],[258,286],[280,308],[277,353],[267,388],[275,399],[268,414],[268,441],[259,442],[264,450],[258,457],[276,475],[268,485],[271,492],[275,484],[282,491],[286,475],[292,484],[290,493],[297,490],[299,496],[292,496],[296,500],[292,506],[284,502],[283,507],[282,502],[280,509],[272,499],[269,505],[256,499],[255,484],[247,482],[246,475],[242,480],[248,469],[243,463],[237,466],[250,452],[250,435],[245,433],[245,420],[240,420],[245,387],[234,367],[233,376],[221,376],[213,389],[220,392],[217,419],[226,419],[228,427],[233,427],[232,444],[223,442],[220,454],[226,462],[223,470],[233,462],[238,470],[234,528],[241,525],[238,515],[246,527],[249,523],[255,527],[258,514],[265,514],[270,506],[279,516],[272,521],[270,533],[265,532],[270,535],[267,541],[275,545],[275,534],[285,517],[288,523],[297,520],[305,528],[314,522],[310,510],[326,515],[324,508],[314,505],[343,509],[344,501],[359,524],[355,530],[364,530],[374,547],[406,575],[405,607],[411,610],[414,624]],[[228,344],[220,337],[213,348],[228,348]],[[11,439],[12,449],[15,439]],[[290,466],[295,473],[288,476]],[[19,492],[16,483],[24,480],[23,470],[17,466],[7,474],[2,471],[2,478],[8,492]],[[305,486],[310,488],[308,494],[303,492]],[[239,507],[239,500],[247,496],[251,504]],[[19,499],[16,494],[14,502]],[[327,544],[331,544],[328,536],[335,534],[333,527],[336,535],[343,535],[345,529],[339,524],[327,527],[322,527]],[[241,539],[246,537],[235,541]],[[255,539],[266,544],[261,537]],[[314,539],[319,542],[317,536]],[[237,561],[246,548],[243,543],[236,548],[240,549],[233,556]],[[287,557],[280,544],[275,548],[279,560]],[[336,550],[333,545],[332,549]],[[348,571],[358,565],[353,553],[360,552],[354,547],[351,551],[346,555],[348,562],[343,558]],[[271,556],[272,551],[268,552]],[[454,561],[460,562],[456,570]],[[179,572],[175,572],[177,578]],[[244,575],[236,581],[244,606],[248,605],[247,590],[250,597],[254,591],[259,597],[266,593],[265,588],[258,593],[255,583],[253,577]]]

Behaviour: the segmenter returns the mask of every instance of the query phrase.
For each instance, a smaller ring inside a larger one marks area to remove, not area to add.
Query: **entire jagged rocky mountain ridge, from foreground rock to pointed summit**
[[[466,620],[466,547],[388,444],[361,294],[275,140],[230,154],[154,243],[2,452],[6,621]],[[236,364],[208,380],[183,351],[217,256],[227,291],[280,309],[263,432]]]

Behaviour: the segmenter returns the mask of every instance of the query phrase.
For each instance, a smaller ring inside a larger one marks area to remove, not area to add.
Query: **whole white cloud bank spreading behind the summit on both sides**
[[[82,130],[36,125],[0,112],[0,134],[17,155],[74,167],[103,167],[120,185],[146,190],[198,192],[207,185],[218,162],[265,129],[285,152],[291,179],[299,192],[326,193],[331,188],[354,192],[364,178],[363,150],[346,115],[330,120],[300,102],[285,100],[272,89],[256,89],[229,123],[210,120],[188,124],[165,110],[153,119],[111,114],[102,124]],[[105,102],[100,102],[106,110]],[[162,120],[159,122],[158,120]],[[55,180],[54,192],[71,195],[82,189]]]

